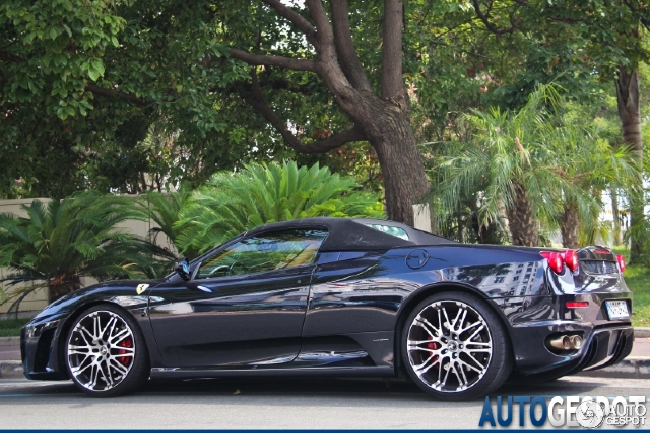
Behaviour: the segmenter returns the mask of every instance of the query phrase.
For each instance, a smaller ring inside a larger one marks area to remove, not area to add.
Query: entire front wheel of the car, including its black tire
[[[118,306],[83,311],[70,327],[64,354],[68,376],[92,397],[118,397],[149,377],[149,354],[140,327]]]

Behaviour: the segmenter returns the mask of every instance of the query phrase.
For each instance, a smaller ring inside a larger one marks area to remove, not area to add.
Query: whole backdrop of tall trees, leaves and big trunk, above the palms
[[[540,84],[641,156],[648,23],[627,0],[6,0],[0,196],[198,187],[292,159],[408,219],[444,147],[415,143],[467,142],[463,114],[519,111]]]

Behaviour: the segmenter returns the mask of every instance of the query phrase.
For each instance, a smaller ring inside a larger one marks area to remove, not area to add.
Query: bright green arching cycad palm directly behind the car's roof
[[[202,252],[242,231],[305,217],[385,218],[377,194],[358,192],[354,178],[331,174],[316,163],[252,163],[238,173],[220,172],[194,191],[177,243]]]

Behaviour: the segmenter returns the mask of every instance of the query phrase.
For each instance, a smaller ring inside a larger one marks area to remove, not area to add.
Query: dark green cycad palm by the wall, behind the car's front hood
[[[152,256],[164,254],[118,227],[136,217],[129,198],[89,191],[22,209],[26,218],[0,215],[0,267],[12,272],[1,281],[14,287],[4,301],[13,301],[10,309],[42,288],[56,300],[79,289],[84,277],[147,276]]]

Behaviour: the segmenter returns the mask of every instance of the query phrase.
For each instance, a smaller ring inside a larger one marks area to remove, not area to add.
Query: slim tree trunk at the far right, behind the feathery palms
[[[627,143],[636,154],[638,169],[642,172],[643,137],[641,133],[641,105],[639,101],[640,84],[638,65],[632,64],[630,67],[621,66],[619,68],[618,77],[616,79],[616,101],[618,105],[618,114],[621,118],[623,141]],[[642,178],[639,179],[639,183],[642,183]],[[643,220],[645,220],[643,193],[630,190],[629,196],[631,226],[642,226]],[[634,234],[634,231],[632,231],[630,263],[638,261],[640,256],[643,254],[643,239],[637,239],[637,236],[634,236]]]

